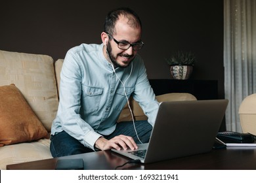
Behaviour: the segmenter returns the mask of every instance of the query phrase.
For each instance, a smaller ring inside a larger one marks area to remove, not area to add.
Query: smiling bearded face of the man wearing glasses
[[[120,18],[116,23],[116,33],[111,35],[118,42],[139,42],[141,37],[140,27],[131,27],[127,24],[126,18]],[[137,50],[133,50],[130,46],[127,50],[118,48],[114,39],[108,39],[106,50],[114,67],[128,67],[131,61],[135,58]]]

